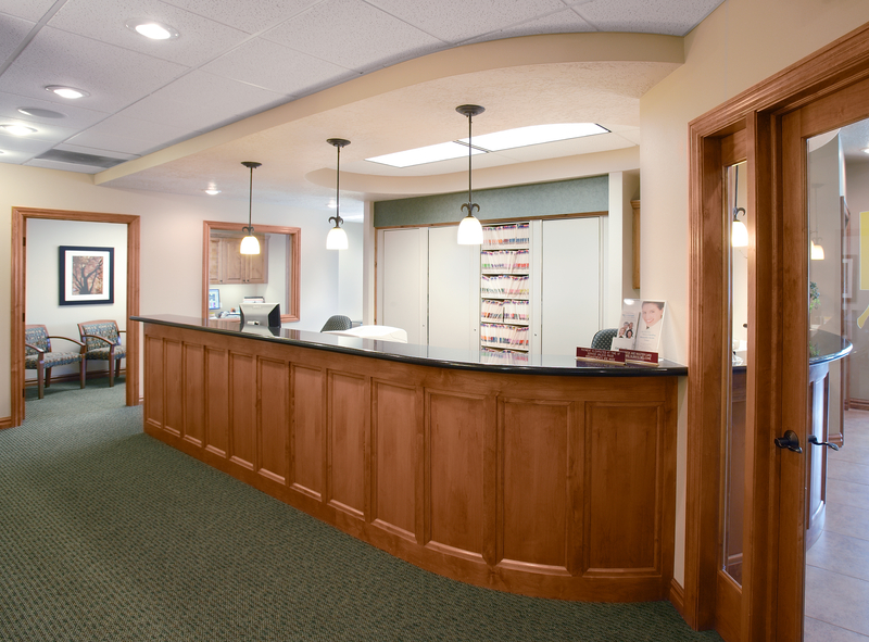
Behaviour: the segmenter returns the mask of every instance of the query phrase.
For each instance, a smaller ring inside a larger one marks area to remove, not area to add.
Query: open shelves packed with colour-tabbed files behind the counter
[[[528,363],[530,225],[483,226],[482,235],[480,352],[490,363]]]

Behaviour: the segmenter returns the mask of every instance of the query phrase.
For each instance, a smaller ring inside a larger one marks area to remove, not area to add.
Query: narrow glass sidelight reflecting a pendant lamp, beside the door
[[[742,527],[745,498],[745,413],[748,368],[748,231],[746,163],[726,169],[730,249],[725,275],[729,293],[729,400],[723,430],[721,568],[742,584]]]

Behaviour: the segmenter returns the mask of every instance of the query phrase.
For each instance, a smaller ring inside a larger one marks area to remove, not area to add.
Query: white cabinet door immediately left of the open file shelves
[[[428,344],[477,350],[480,247],[459,246],[458,226],[428,232]]]

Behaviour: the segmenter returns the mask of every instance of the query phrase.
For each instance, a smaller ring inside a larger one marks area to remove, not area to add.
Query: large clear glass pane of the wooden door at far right
[[[806,452],[805,640],[869,634],[865,609],[831,609],[855,579],[869,582],[869,524],[853,521],[869,506],[869,125],[857,123],[807,141],[806,209],[809,282]],[[862,225],[861,225],[862,223]],[[860,278],[862,275],[866,277]],[[842,356],[853,342],[854,351]],[[827,442],[840,446],[834,451]],[[852,442],[854,445],[852,445]],[[856,446],[856,448],[855,448]],[[867,514],[869,516],[869,514]],[[837,561],[837,562],[834,562]],[[822,624],[819,624],[822,622]],[[835,630],[833,629],[835,627]]]

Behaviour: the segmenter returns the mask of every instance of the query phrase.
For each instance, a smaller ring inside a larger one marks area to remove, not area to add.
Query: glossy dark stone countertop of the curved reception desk
[[[338,352],[341,354],[351,354],[355,356],[367,356],[371,358],[381,358],[385,361],[393,361],[398,363],[406,363],[413,365],[423,365],[440,368],[450,368],[456,370],[470,370],[479,373],[499,373],[499,374],[514,374],[514,375],[547,375],[556,377],[680,377],[688,375],[688,366],[677,364],[667,360],[662,360],[658,366],[645,365],[608,365],[594,362],[579,362],[574,365],[515,365],[515,364],[488,364],[473,361],[462,361],[458,358],[439,358],[436,356],[420,356],[415,354],[401,354],[401,347],[411,347],[425,349],[425,347],[417,347],[408,343],[394,343],[390,341],[375,341],[371,339],[358,339],[354,337],[338,337],[335,335],[325,335],[320,332],[308,332],[304,330],[290,330],[284,328],[281,333],[295,333],[299,338],[288,336],[272,336],[266,337],[262,335],[253,335],[241,332],[240,330],[230,330],[224,328],[215,328],[207,326],[207,320],[203,322],[199,318],[180,317],[171,315],[154,315],[154,316],[131,316],[130,320],[155,324],[161,326],[169,326],[175,328],[182,328],[188,330],[200,330],[203,332],[213,332],[216,335],[226,335],[230,337],[243,337],[255,341],[267,341],[270,343],[284,343],[290,345],[298,345],[300,348],[310,348],[313,350],[324,350],[327,352]],[[343,340],[345,343],[355,343],[355,345],[340,345],[337,342],[330,341]],[[461,352],[461,351],[454,351]],[[543,356],[542,358],[561,358],[567,361],[572,357],[552,357]]]

